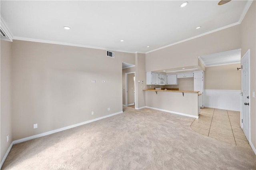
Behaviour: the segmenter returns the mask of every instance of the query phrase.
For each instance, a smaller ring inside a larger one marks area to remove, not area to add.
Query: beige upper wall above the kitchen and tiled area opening
[[[146,71],[198,65],[198,57],[241,47],[240,25],[146,54]]]

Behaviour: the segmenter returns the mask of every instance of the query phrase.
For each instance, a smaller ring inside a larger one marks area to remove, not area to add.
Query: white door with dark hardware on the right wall
[[[250,49],[242,57],[242,129],[250,141]]]

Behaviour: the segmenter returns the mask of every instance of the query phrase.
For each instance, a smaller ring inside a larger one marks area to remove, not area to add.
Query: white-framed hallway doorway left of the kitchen
[[[135,106],[135,72],[125,73],[125,106]]]

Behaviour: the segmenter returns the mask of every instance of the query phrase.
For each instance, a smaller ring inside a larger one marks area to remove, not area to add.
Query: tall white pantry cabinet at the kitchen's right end
[[[194,91],[202,94],[202,97],[198,97],[198,103],[204,108],[204,71],[194,71]]]

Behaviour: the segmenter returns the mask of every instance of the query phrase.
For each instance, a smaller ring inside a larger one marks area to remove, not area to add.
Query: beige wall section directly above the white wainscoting
[[[204,89],[241,90],[240,67],[240,63],[206,67]]]

